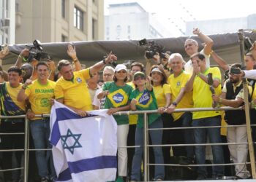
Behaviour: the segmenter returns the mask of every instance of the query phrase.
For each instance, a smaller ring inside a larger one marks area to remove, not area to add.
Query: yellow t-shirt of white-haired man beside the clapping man
[[[187,81],[189,80],[190,75],[186,72],[182,72],[178,76],[174,76],[174,74],[171,74],[168,77],[168,83],[170,84],[170,90],[171,90],[171,99],[174,101],[178,97],[179,92],[181,91],[181,88],[184,88],[187,84]],[[176,108],[192,108],[193,107],[193,99],[192,99],[192,92],[185,92],[183,98],[181,98],[181,101],[178,103]],[[184,112],[178,112],[173,113],[173,119],[176,121],[179,119]]]

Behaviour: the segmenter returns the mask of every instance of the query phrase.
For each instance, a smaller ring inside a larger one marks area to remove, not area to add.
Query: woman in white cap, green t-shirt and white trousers
[[[105,108],[108,108],[108,114],[114,114],[118,111],[129,111],[129,96],[132,93],[132,87],[126,84],[127,67],[124,64],[118,64],[115,68],[113,82],[105,82],[102,92],[98,98],[106,96]],[[114,115],[117,127],[117,145],[118,145],[118,178],[116,181],[122,182],[127,177],[127,135],[129,132],[129,120],[127,115]],[[119,148],[121,147],[121,148]]]

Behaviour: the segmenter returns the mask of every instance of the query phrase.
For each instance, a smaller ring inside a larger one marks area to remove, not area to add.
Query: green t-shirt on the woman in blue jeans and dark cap
[[[140,92],[138,89],[133,90],[131,96],[129,97],[129,100],[132,100],[135,98],[138,103],[136,104],[136,108],[138,111],[145,111],[145,110],[156,110],[157,107],[157,99],[154,96],[154,92],[148,91],[148,90],[143,90],[143,92]],[[137,127],[142,128],[143,127],[143,122],[144,122],[144,114],[138,114],[138,124]],[[153,123],[156,121],[156,119],[160,115],[157,113],[154,114],[148,114],[148,124]]]

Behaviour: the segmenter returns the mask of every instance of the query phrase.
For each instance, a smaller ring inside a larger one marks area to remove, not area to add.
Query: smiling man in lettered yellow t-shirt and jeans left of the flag
[[[50,136],[49,118],[34,117],[34,114],[49,114],[50,100],[54,98],[55,82],[48,79],[48,63],[39,61],[36,67],[37,79],[32,82],[27,79],[22,89],[18,93],[18,101],[29,100],[31,109],[28,109],[30,115],[30,129],[34,141],[35,149],[51,149],[48,138]],[[36,151],[37,167],[41,182],[47,182],[56,176],[51,151]],[[50,170],[48,170],[50,162]]]

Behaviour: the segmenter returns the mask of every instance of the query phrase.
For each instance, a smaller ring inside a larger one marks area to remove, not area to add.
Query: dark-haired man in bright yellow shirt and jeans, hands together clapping
[[[209,108],[212,107],[213,99],[208,84],[208,74],[211,73],[213,77],[214,91],[216,95],[221,93],[221,74],[219,68],[207,68],[206,58],[201,53],[196,53],[191,56],[193,65],[193,74],[186,84],[185,90],[191,92],[193,90],[194,108]],[[222,143],[220,137],[221,116],[220,111],[197,111],[193,112],[193,127],[206,127],[196,128],[194,130],[195,143],[206,143],[208,137],[211,143]],[[214,128],[213,128],[214,127]],[[214,157],[214,164],[223,164],[224,157],[222,146],[211,146]],[[206,164],[206,146],[195,146],[195,157],[197,165]],[[224,175],[223,166],[215,166],[212,171],[213,178],[221,178]],[[197,167],[197,179],[203,180],[207,177],[206,167]]]

